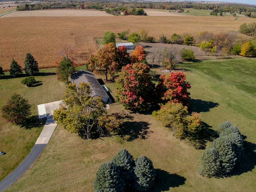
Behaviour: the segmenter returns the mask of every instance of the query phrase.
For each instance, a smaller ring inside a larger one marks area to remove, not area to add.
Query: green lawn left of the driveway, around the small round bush
[[[64,94],[65,84],[59,82],[55,69],[40,70],[36,76],[35,84],[32,87],[25,87],[21,84],[21,78],[0,79],[0,108],[6,104],[10,96],[16,92],[26,98],[32,105],[32,115],[37,115],[37,105],[60,100]],[[9,75],[6,73],[6,75]],[[5,178],[26,158],[42,127],[26,130],[14,126],[0,117],[0,150],[6,152],[0,158],[0,180]]]

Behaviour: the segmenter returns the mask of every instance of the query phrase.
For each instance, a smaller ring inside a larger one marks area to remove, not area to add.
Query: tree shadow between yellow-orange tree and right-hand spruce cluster
[[[212,142],[215,138],[218,137],[217,132],[211,128],[212,127],[207,123],[202,122],[201,128],[193,134],[187,134],[186,138],[191,142],[194,148],[205,149],[206,143],[208,141]]]

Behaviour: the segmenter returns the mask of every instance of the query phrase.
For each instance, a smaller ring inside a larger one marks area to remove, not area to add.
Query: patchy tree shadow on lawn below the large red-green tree
[[[149,131],[149,125],[147,122],[134,122],[125,121],[121,127],[114,130],[115,135],[120,136],[122,140],[133,141],[135,139],[147,139],[148,134],[152,133]]]

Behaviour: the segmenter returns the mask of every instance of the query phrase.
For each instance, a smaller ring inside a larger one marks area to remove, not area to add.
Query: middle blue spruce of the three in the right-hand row
[[[222,174],[230,173],[236,164],[236,155],[230,139],[224,135],[220,136],[211,143],[211,147],[219,152]]]

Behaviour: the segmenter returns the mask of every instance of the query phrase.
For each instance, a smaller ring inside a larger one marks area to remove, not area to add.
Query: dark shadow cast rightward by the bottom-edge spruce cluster
[[[156,180],[152,189],[148,192],[161,192],[169,191],[170,188],[178,187],[183,185],[186,178],[179,176],[178,174],[170,174],[167,171],[156,169]]]

